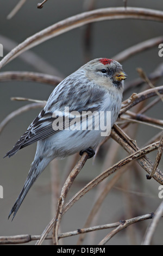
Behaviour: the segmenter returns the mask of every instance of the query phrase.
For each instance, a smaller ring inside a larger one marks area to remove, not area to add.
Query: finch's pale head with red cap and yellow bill
[[[82,68],[86,77],[99,86],[108,90],[123,90],[123,80],[127,75],[122,69],[122,65],[116,60],[107,58],[93,59]]]

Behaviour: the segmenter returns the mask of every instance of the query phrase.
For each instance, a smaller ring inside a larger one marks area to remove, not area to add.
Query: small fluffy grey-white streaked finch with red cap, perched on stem
[[[55,87],[46,106],[14,148],[5,155],[11,157],[19,149],[37,142],[29,174],[9,214],[10,217],[13,213],[12,220],[34,181],[55,157],[63,158],[78,152],[82,155],[84,151],[89,154],[89,158],[95,154],[95,149],[104,139],[101,136],[102,129],[89,130],[88,124],[84,123],[87,121],[81,121],[80,118],[76,122],[76,129],[74,126],[73,129],[67,129],[72,121],[72,113],[110,111],[112,127],[120,112],[125,79],[126,74],[120,63],[112,59],[98,58],[83,65]],[[68,109],[67,112],[65,108]],[[55,123],[58,121],[59,124],[60,120],[62,129]],[[82,122],[86,129],[79,129],[79,126],[83,125]],[[58,129],[54,129],[54,126]]]

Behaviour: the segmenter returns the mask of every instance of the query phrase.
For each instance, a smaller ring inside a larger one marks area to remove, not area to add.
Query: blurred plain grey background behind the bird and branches
[[[42,9],[37,9],[38,2],[39,1],[36,0],[28,0],[11,20],[7,20],[7,15],[18,3],[18,0],[1,0],[0,35],[5,36],[18,44],[28,38],[28,36],[35,34],[43,28],[53,25],[55,22],[81,13],[84,10],[84,4],[86,1],[48,0]],[[121,7],[123,4],[122,0],[100,0],[95,1],[95,8]],[[163,10],[163,3],[159,0],[128,0],[128,6]],[[65,77],[78,69],[85,62],[83,44],[84,32],[85,27],[73,29],[70,32],[43,42],[42,44],[32,48],[31,51],[56,68],[60,74]],[[141,41],[162,35],[162,23],[142,20],[101,21],[92,23],[91,33],[91,58],[111,58],[122,50]],[[0,41],[0,43],[2,42]],[[4,56],[8,52],[9,50],[6,50],[4,45]],[[136,54],[136,56],[127,59],[122,63],[124,71],[128,74],[127,82],[137,78],[137,67],[141,67],[147,74],[149,74],[162,62],[162,60],[163,57],[160,58],[158,56],[158,47],[154,47],[151,50]],[[39,63],[37,65],[39,66]],[[1,71],[37,72],[37,69],[24,62],[22,59],[16,58],[9,64],[5,65]],[[162,80],[159,80],[158,84],[161,85]],[[10,97],[29,97],[31,99],[47,100],[52,90],[53,87],[48,86],[47,84],[24,81],[1,82],[1,121],[10,112],[28,103],[11,101]],[[130,90],[130,92],[124,95],[124,99],[126,99],[131,93],[137,91],[139,92],[137,89]],[[4,198],[0,199],[0,236],[18,234],[39,235],[52,218],[50,191],[51,173],[49,171],[49,167],[47,167],[45,172],[42,173],[34,186],[30,189],[20,210],[18,210],[14,221],[8,221],[8,215],[11,207],[15,203],[15,200],[23,187],[24,180],[26,179],[30,168],[30,163],[33,161],[36,144],[20,150],[14,157],[11,157],[11,159],[2,159],[2,157],[14,146],[17,139],[26,131],[28,125],[39,112],[40,109],[35,109],[18,115],[10,121],[0,134],[0,185],[3,186],[4,190]],[[161,102],[154,107],[153,117],[159,119],[162,118]],[[141,147],[141,145],[145,144],[157,132],[157,129],[140,125],[136,136],[138,145]],[[154,160],[155,155],[156,152],[151,154],[152,160]],[[117,160],[120,160],[120,156],[117,156]],[[65,169],[65,162],[66,160],[59,162],[60,169]],[[99,170],[101,170],[101,166],[102,160],[100,157],[96,161],[96,164],[93,165],[91,160],[87,161],[82,172],[77,177],[77,184],[71,188],[68,198],[73,196],[73,194],[77,192],[80,187],[84,186],[86,182],[89,182],[90,179],[93,179],[98,175]],[[162,162],[159,167],[162,169]],[[80,179],[84,181],[82,184],[79,183],[78,186]],[[137,181],[133,180],[133,184],[135,182]],[[158,186],[159,185],[156,181],[146,180],[146,173],[142,170],[141,189],[143,187],[143,191],[141,190],[140,192],[146,193],[147,197],[134,197],[135,204],[141,200],[142,205],[144,206],[142,209],[137,209],[135,214],[142,215],[156,210],[161,202],[161,199],[158,198]],[[139,188],[139,184],[136,185],[136,189],[137,188]],[[76,203],[72,209],[66,213],[62,218],[61,231],[70,231],[83,227],[86,217],[91,209],[95,192],[96,188],[87,193],[85,197],[80,199],[80,202]],[[125,207],[124,194],[121,191],[116,190],[116,188],[112,189],[108,194],[108,197],[105,199],[101,217],[97,224],[117,222],[118,220],[125,218]],[[150,221],[146,222],[148,224]],[[142,239],[142,234],[145,232],[145,228],[145,225],[139,223],[138,229],[140,236],[136,237],[135,243],[141,242],[140,239]],[[162,221],[160,221],[159,227],[156,229],[153,244],[163,244],[162,228],[163,224]],[[98,231],[95,243],[97,244],[107,233],[108,230]],[[64,244],[71,245],[75,244],[76,241],[77,237],[71,237],[65,239]],[[30,242],[28,244],[32,245],[34,242]],[[48,244],[48,242],[45,242],[45,244]],[[130,244],[130,241],[127,239],[126,230],[113,237],[108,244]]]

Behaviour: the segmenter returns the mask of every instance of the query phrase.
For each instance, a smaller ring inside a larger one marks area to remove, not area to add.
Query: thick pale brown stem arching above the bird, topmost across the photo
[[[5,56],[0,62],[0,69],[2,66],[10,62],[22,52],[32,48],[41,42],[46,41],[54,36],[60,35],[71,29],[81,27],[91,22],[103,20],[118,20],[118,19],[140,19],[151,21],[163,21],[163,11],[146,9],[146,8],[103,8],[92,11],[87,11],[82,14],[68,17],[65,20],[55,23],[42,31],[30,36],[21,44],[16,46],[11,52]]]

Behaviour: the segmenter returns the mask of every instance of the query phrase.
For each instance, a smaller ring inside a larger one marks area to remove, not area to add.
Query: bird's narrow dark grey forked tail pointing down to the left
[[[12,220],[14,219],[14,217],[16,215],[16,212],[18,211],[18,209],[20,208],[24,198],[26,197],[30,187],[32,187],[33,183],[37,179],[37,176],[39,176],[42,173],[42,171],[45,169],[48,162],[46,162],[45,160],[42,160],[42,158],[39,157],[39,159],[34,160],[34,162],[32,163],[32,166],[29,170],[29,174],[28,174],[27,179],[24,183],[24,187],[23,187],[20,195],[18,196],[14,206],[12,207],[12,209],[10,211],[9,217],[11,216],[12,213],[14,213],[13,217],[12,217]],[[9,217],[8,217],[8,219],[9,219]]]

